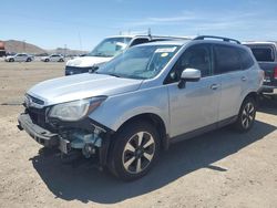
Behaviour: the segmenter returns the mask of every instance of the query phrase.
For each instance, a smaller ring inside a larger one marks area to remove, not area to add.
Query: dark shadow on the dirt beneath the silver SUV
[[[57,154],[41,153],[31,160],[42,180],[58,198],[114,204],[158,189],[199,168],[228,171],[212,164],[261,139],[275,129],[276,126],[256,121],[246,134],[225,127],[181,142],[163,152],[157,164],[146,176],[131,183],[117,180],[109,174],[99,171],[82,158],[72,165],[63,165]]]

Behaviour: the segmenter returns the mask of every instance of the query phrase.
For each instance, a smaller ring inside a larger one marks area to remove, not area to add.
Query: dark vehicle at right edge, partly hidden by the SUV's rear
[[[259,66],[265,72],[263,93],[277,94],[277,43],[276,42],[244,42],[249,46]]]

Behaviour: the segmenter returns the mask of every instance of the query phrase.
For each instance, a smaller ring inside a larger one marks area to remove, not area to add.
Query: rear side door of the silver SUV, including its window
[[[240,49],[215,44],[214,55],[215,74],[222,86],[218,119],[224,121],[238,114],[249,77],[242,65]]]

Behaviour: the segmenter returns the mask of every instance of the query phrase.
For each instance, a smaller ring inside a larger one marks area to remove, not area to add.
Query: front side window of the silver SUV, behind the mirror
[[[178,82],[185,69],[199,70],[202,77],[212,75],[211,46],[197,44],[185,50],[167,75],[165,83]]]

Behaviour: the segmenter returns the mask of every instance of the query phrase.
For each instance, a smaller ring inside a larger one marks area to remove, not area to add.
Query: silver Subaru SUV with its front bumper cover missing
[[[34,85],[19,128],[63,155],[96,157],[132,180],[174,142],[229,124],[250,129],[261,82],[263,71],[238,41],[146,43],[94,73]]]

